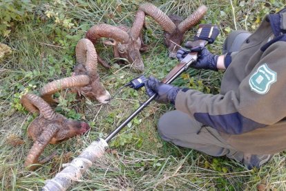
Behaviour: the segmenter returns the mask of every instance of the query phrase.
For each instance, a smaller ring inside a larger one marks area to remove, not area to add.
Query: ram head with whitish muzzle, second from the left
[[[97,73],[97,53],[93,43],[88,39],[80,39],[75,48],[78,64],[72,77],[49,82],[40,90],[41,98],[47,102],[57,102],[53,99],[53,93],[71,88],[73,92],[86,96],[101,103],[107,103],[111,99],[100,82]]]

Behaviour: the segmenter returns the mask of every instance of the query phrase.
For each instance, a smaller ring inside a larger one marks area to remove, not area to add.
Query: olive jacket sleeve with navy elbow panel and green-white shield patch
[[[269,46],[238,89],[224,95],[182,89],[175,108],[227,134],[273,125],[286,116],[285,50],[286,42]]]

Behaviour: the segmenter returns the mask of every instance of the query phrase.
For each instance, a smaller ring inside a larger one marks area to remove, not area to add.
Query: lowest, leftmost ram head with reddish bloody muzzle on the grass
[[[39,113],[39,116],[28,127],[28,136],[34,140],[24,164],[29,170],[35,170],[37,165],[34,164],[44,164],[48,161],[48,159],[39,161],[39,156],[44,152],[48,143],[59,143],[73,136],[84,134],[90,129],[86,122],[70,120],[55,113],[47,102],[32,93],[22,96],[21,103],[31,113]]]

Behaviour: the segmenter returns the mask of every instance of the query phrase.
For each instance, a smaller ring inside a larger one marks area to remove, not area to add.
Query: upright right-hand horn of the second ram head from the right
[[[137,10],[135,15],[135,21],[130,30],[130,35],[133,39],[137,39],[140,36],[141,30],[145,22],[145,13],[142,10]]]

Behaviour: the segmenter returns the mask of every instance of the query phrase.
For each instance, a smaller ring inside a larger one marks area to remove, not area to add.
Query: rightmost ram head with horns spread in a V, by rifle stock
[[[168,48],[169,57],[175,58],[180,45],[184,40],[184,33],[196,26],[206,14],[207,7],[200,6],[187,19],[182,20],[178,15],[167,16],[162,10],[151,3],[143,3],[139,10],[152,17],[164,30],[164,44]]]

